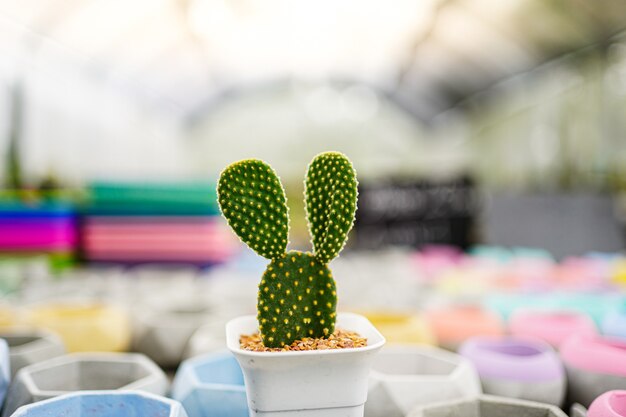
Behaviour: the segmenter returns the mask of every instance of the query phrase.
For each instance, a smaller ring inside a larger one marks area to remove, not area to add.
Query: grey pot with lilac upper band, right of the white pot
[[[486,394],[561,405],[566,380],[554,349],[537,339],[475,337],[459,353],[480,375]]]

